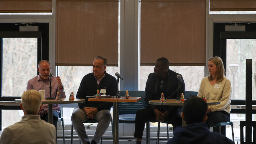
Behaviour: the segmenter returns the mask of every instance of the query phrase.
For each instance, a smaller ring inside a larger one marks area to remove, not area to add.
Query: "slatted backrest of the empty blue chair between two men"
[[[126,91],[121,91],[120,96],[125,96]],[[142,99],[138,102],[119,102],[119,115],[136,114],[137,110],[146,106],[145,91],[129,91],[129,96],[139,96]]]

